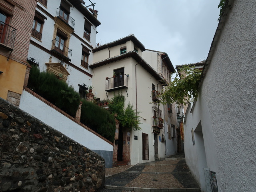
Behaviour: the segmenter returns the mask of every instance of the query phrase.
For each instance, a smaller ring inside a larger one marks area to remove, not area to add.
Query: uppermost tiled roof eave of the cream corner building
[[[117,45],[120,45],[120,44],[124,44],[124,43],[126,43],[127,41],[130,41],[130,40],[132,40],[132,42],[136,46],[138,46],[138,48],[140,48],[141,51],[146,50],[144,45],[136,38],[136,36],[134,36],[134,34],[130,34],[130,35],[128,35],[124,38],[118,39],[116,41],[100,45],[100,46],[98,46],[98,47],[96,47],[92,50],[93,50],[93,52],[97,52],[97,51],[100,51],[102,49],[106,49],[108,47],[114,47],[114,46],[117,46]]]

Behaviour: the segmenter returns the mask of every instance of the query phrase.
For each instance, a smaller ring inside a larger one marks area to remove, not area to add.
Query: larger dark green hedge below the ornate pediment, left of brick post
[[[63,80],[58,80],[56,75],[45,71],[40,72],[38,67],[32,66],[28,78],[28,88],[70,116],[76,115],[80,96],[72,86]]]

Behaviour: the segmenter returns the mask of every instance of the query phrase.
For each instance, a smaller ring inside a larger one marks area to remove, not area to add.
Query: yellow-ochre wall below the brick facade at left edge
[[[8,90],[22,94],[26,65],[0,55],[0,97],[6,99]]]

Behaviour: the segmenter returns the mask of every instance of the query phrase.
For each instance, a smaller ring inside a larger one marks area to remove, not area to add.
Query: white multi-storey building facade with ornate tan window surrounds
[[[76,91],[78,84],[92,84],[88,64],[100,22],[88,5],[80,0],[38,1],[28,51],[28,60],[35,59],[40,70],[63,76]]]

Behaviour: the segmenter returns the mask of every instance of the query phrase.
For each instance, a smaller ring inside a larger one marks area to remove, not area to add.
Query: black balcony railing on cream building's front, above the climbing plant
[[[106,91],[118,90],[122,88],[128,88],[128,78],[124,74],[121,76],[115,76],[111,78],[106,78]]]

